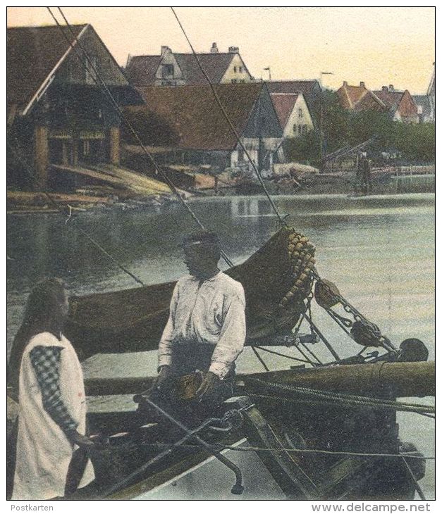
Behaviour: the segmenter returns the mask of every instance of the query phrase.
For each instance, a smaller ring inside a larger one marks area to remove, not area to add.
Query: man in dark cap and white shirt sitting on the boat
[[[164,391],[176,377],[200,370],[197,399],[215,406],[232,394],[235,360],[244,347],[244,289],[219,270],[216,234],[193,234],[183,250],[190,275],[181,277],[173,291],[155,387]]]

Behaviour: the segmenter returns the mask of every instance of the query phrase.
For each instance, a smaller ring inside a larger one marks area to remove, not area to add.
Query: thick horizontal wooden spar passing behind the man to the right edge
[[[280,370],[238,375],[247,387],[247,378],[291,384],[299,387],[341,391],[351,394],[376,394],[393,391],[394,396],[434,396],[436,367],[429,363],[375,363],[337,365],[324,368]],[[149,389],[152,377],[87,378],[87,396],[135,394]],[[248,387],[247,387],[248,389]],[[257,386],[254,386],[256,391]]]

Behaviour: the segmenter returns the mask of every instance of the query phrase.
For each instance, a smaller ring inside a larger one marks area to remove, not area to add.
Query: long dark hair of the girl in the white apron
[[[47,278],[39,282],[27,298],[23,322],[14,338],[8,367],[8,385],[18,391],[21,359],[27,343],[42,332],[50,332],[60,339],[66,315],[63,303],[66,286],[63,280]]]

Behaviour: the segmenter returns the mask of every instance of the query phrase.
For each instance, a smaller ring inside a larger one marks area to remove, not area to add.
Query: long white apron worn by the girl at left
[[[19,413],[16,473],[13,500],[44,500],[64,496],[66,475],[74,447],[59,425],[44,410],[42,393],[29,353],[35,346],[60,346],[61,399],[77,430],[85,434],[86,398],[83,374],[77,354],[66,337],[61,340],[44,332],[32,337],[20,365]],[[75,449],[77,446],[75,446]],[[88,460],[79,487],[92,482],[94,469]]]

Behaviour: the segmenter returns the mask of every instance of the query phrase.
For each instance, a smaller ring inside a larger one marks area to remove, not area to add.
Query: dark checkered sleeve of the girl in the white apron
[[[62,350],[60,346],[35,346],[30,351],[30,360],[42,391],[44,410],[62,430],[75,430],[78,423],[70,416],[61,398],[59,365]]]

